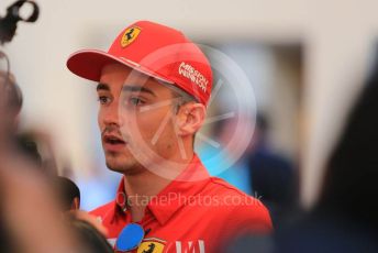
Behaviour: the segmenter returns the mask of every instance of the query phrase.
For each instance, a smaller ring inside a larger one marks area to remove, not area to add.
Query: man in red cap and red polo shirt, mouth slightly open
[[[91,213],[119,252],[215,252],[242,232],[268,232],[256,199],[210,177],[193,151],[212,72],[174,29],[140,21],[108,53],[79,51],[67,67],[98,81],[107,166],[123,174],[114,201]]]

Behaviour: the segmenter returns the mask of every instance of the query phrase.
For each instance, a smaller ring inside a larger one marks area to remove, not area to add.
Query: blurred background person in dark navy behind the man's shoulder
[[[251,188],[267,205],[276,227],[297,206],[298,184],[292,162],[269,145],[267,117],[257,113],[247,164]]]

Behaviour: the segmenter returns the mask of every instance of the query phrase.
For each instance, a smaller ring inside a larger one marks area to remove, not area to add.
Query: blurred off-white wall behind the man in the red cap
[[[2,0],[3,13],[13,0]],[[97,47],[135,20],[154,20],[196,40],[253,38],[303,42],[305,54],[305,143],[302,150],[302,201],[313,202],[323,162],[340,132],[351,99],[360,88],[378,34],[376,0],[38,0],[37,24],[21,24],[5,47],[25,94],[26,125],[44,125],[62,158],[82,172],[92,164],[96,99],[87,81],[65,67],[67,56]],[[103,48],[105,50],[105,48]],[[90,119],[88,119],[90,118]]]

